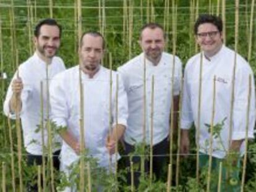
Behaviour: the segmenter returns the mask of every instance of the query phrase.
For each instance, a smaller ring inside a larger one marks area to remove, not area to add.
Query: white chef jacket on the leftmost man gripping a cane
[[[48,66],[49,83],[56,73],[65,70],[64,62],[60,57],[53,57],[51,64]],[[27,61],[19,66],[19,77],[22,78],[23,90],[21,94],[22,109],[20,112],[20,119],[22,122],[24,146],[27,152],[34,155],[42,155],[42,139],[41,130],[38,131],[38,126],[41,124],[41,88],[40,82],[43,82],[43,118],[46,124],[46,104],[47,104],[47,86],[46,86],[46,63],[33,54]],[[17,78],[15,72],[12,81]],[[9,85],[6,100],[4,101],[4,113],[11,119],[15,119],[15,114],[12,114],[9,109],[9,101],[12,96],[12,81]],[[48,102],[49,103],[49,102]],[[45,133],[45,146],[48,143],[47,130]],[[59,136],[54,138],[53,152],[57,151],[60,147],[56,143],[60,143]]]

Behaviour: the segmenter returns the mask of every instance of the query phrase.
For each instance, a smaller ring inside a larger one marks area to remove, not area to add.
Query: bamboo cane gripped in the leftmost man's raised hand
[[[17,67],[17,78],[19,78],[19,52],[16,49],[16,67]],[[20,112],[19,107],[20,102],[18,102],[18,98],[16,96],[16,131],[17,131],[17,145],[18,145],[18,167],[19,167],[19,185],[20,185],[20,191],[23,191],[23,177],[22,177],[22,133],[20,128]]]

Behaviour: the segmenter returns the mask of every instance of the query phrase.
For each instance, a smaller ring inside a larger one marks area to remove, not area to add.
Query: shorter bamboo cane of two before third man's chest
[[[153,128],[154,128],[154,89],[155,78],[152,76],[151,82],[151,114],[150,114],[150,185],[153,182]]]

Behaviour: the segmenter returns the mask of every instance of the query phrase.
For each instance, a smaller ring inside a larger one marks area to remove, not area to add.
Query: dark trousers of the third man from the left
[[[169,149],[169,141],[168,138],[165,138],[158,144],[153,146],[153,173],[155,175],[156,180],[160,180],[160,178],[165,178],[166,174],[163,175],[163,168],[166,165],[167,154]],[[129,156],[130,152],[134,152],[134,146],[124,142],[125,150],[124,153]],[[148,148],[148,146],[147,146]],[[132,162],[135,165],[134,167],[138,167],[137,170],[134,170],[134,185],[137,188],[139,186],[139,178],[140,178],[140,156],[133,156]],[[150,171],[150,159],[145,159],[145,173],[149,173]],[[130,157],[126,157],[126,167],[130,168]],[[131,184],[131,175],[130,169],[127,173],[127,183]]]

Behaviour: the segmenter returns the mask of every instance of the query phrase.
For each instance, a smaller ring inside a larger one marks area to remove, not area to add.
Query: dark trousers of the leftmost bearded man
[[[53,167],[56,170],[59,170],[59,154],[61,153],[61,150],[56,151],[53,153]],[[47,163],[48,157],[45,157],[45,162]],[[30,153],[27,153],[27,164],[28,166],[33,166],[33,165],[42,165],[43,164],[43,156],[37,156],[33,155]],[[34,178],[34,181],[37,180],[37,176]],[[43,181],[41,181],[42,183]],[[27,185],[27,190],[28,191],[38,191],[38,186],[37,184],[32,185],[31,183],[28,183]]]

